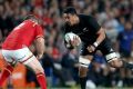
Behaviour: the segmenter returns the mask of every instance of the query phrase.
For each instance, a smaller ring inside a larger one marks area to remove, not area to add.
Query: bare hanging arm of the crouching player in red
[[[38,38],[35,40],[35,49],[37,49],[37,58],[40,59],[42,58],[43,53],[44,53],[44,39],[43,38]]]

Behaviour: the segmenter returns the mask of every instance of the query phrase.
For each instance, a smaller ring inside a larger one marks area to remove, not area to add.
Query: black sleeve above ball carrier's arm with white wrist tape
[[[85,23],[86,23],[88,28],[92,30],[93,33],[96,33],[101,28],[101,26],[98,23],[96,19],[93,18],[92,16],[86,16]]]

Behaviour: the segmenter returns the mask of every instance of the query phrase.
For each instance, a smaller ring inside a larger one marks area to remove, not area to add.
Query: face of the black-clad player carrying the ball
[[[70,24],[70,26],[73,26],[75,22],[75,17],[74,14],[71,14],[71,13],[63,13],[63,20],[65,23]]]

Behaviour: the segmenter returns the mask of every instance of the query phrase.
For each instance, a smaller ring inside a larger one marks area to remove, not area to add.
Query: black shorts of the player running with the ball
[[[110,41],[109,41],[108,39],[105,39],[105,40],[96,48],[96,50],[95,50],[94,52],[89,52],[89,51],[88,51],[86,48],[88,48],[89,44],[90,44],[90,43],[83,43],[83,44],[82,44],[81,56],[94,55],[96,50],[100,50],[100,51],[103,53],[103,56],[106,56],[106,55],[109,55],[109,53],[114,52],[114,50],[112,49],[111,43],[110,43]]]

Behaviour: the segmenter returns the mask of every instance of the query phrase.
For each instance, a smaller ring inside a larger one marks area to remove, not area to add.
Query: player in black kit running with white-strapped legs
[[[127,63],[116,56],[111,47],[109,39],[106,38],[105,30],[92,16],[78,14],[76,10],[72,7],[68,7],[63,11],[64,20],[64,33],[73,32],[78,34],[82,40],[82,49],[79,57],[79,72],[80,72],[80,85],[81,89],[85,89],[88,67],[93,59],[93,55],[96,50],[100,50],[105,57],[110,66],[115,68],[133,68],[132,63]],[[73,49],[79,40],[75,38],[74,41],[70,42]],[[66,42],[64,41],[65,46]]]

